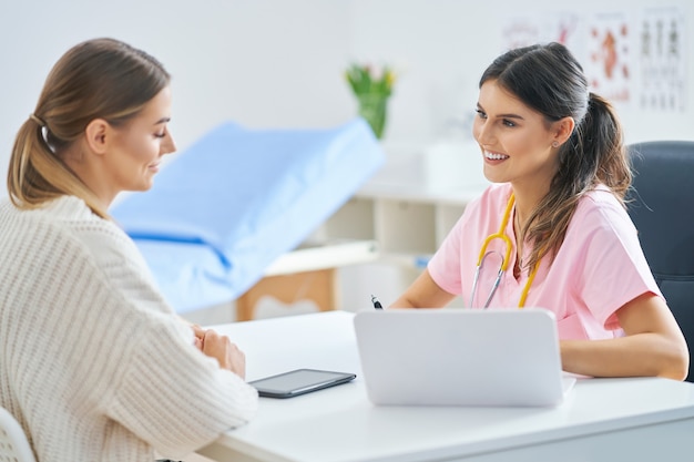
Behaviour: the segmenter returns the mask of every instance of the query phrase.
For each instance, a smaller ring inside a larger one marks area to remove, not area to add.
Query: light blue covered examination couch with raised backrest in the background
[[[177,312],[243,295],[385,162],[363,119],[319,130],[225,123],[174,155],[111,214]]]

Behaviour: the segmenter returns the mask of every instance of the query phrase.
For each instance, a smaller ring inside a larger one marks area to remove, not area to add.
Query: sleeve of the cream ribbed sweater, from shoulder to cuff
[[[99,263],[92,284],[109,294],[101,310],[116,311],[110,342],[120,357],[108,415],[159,453],[181,458],[256,412],[257,391],[220,368],[193,343],[193,331],[165,304],[136,246],[112,224],[80,229]],[[108,369],[108,367],[106,367]]]

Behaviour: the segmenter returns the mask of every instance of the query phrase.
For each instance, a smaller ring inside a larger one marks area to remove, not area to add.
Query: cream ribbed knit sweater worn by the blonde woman
[[[0,404],[40,462],[181,459],[257,402],[194,347],[115,224],[75,197],[0,201]]]

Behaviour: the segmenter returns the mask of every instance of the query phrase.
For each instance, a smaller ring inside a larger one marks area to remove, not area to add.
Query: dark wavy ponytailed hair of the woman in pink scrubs
[[[623,130],[610,102],[589,92],[581,64],[561,43],[506,52],[487,68],[479,86],[490,80],[541,113],[548,126],[567,116],[575,122],[560,147],[560,167],[550,191],[521,232],[532,243],[524,261],[532,268],[544,255],[557,255],[579,199],[598,184],[606,185],[624,204],[632,173]]]

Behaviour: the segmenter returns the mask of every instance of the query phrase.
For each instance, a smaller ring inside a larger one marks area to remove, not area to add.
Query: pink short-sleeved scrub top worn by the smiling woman
[[[493,184],[467,207],[441,247],[428,264],[435,283],[447,292],[459,295],[466,305],[482,243],[497,233],[503,219],[510,184]],[[529,270],[513,277],[516,235],[513,213],[506,227],[512,243],[508,271],[489,305],[518,307]],[[524,246],[530,247],[530,246]],[[501,239],[488,246],[492,251],[480,270],[472,307],[481,307],[489,296],[504,254]],[[530,248],[523,248],[528,258]],[[662,297],[641,249],[636,228],[616,197],[600,186],[579,202],[567,235],[552,265],[541,261],[530,287],[525,307],[554,312],[560,339],[605,339],[623,335],[615,311],[645,292]]]

